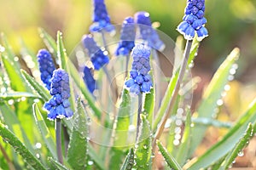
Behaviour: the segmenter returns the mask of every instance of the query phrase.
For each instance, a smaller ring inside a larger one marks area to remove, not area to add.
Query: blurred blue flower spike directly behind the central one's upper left
[[[122,26],[120,42],[118,48],[115,51],[117,56],[123,55],[128,56],[131,52],[131,49],[134,48],[135,40],[135,25],[132,17],[125,18]]]

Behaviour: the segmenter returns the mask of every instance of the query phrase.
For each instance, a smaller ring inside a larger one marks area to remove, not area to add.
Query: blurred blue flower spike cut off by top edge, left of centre
[[[94,14],[92,20],[94,23],[90,26],[90,31],[100,32],[102,29],[108,32],[114,31],[104,0],[93,0],[93,6]]]

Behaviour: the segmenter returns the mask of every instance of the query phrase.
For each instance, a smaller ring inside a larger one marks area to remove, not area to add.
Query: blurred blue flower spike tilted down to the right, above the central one
[[[159,35],[151,26],[151,20],[149,14],[144,11],[137,12],[135,14],[135,21],[140,29],[141,38],[147,42],[150,48],[155,48],[162,51],[165,48],[164,42],[160,40]]]

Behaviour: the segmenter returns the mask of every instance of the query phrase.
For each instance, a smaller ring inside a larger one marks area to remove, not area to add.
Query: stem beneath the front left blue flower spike
[[[61,150],[61,119],[57,118],[55,120],[55,137],[56,137],[56,147],[58,161],[63,164],[62,150]]]

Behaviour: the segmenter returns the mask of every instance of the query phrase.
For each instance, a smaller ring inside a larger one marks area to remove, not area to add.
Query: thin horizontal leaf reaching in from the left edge
[[[22,97],[32,98],[32,99],[40,98],[38,95],[27,93],[27,92],[13,92],[13,93],[0,94],[0,99],[4,99],[4,100],[20,99]]]

